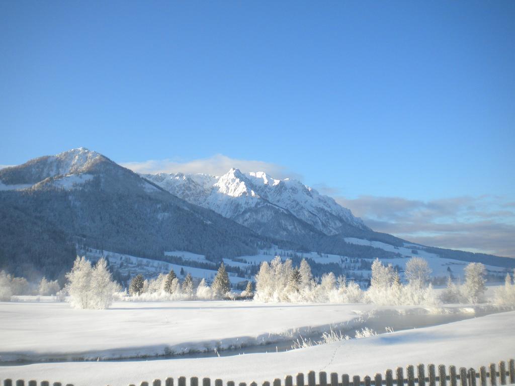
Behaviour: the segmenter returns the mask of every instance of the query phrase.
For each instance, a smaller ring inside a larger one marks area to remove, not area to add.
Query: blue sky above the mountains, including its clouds
[[[513,20],[508,1],[1,2],[0,164],[262,166],[375,229],[515,257]]]

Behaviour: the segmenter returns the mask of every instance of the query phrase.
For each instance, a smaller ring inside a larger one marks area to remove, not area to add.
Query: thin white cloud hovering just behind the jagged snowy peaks
[[[286,167],[265,161],[238,160],[224,154],[215,154],[211,157],[180,162],[175,160],[148,160],[143,162],[122,162],[120,165],[136,173],[205,173],[212,176],[221,176],[231,168],[243,172],[265,171],[273,178],[302,179],[298,173],[289,171]]]

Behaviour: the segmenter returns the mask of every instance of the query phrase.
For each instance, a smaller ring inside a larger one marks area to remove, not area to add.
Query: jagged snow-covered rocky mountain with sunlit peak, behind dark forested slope
[[[272,221],[290,230],[311,227],[325,235],[339,234],[349,226],[368,230],[361,219],[331,197],[320,195],[298,180],[277,180],[262,171],[242,173],[232,168],[221,177],[182,173],[143,177],[171,194],[256,231],[272,226]]]

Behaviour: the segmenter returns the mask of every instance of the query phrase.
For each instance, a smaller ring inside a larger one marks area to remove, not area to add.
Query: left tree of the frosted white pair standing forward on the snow
[[[67,291],[70,294],[70,303],[74,308],[90,308],[91,305],[91,262],[84,256],[74,261],[71,272],[66,274],[68,279]]]

